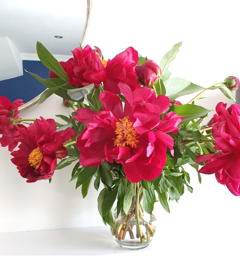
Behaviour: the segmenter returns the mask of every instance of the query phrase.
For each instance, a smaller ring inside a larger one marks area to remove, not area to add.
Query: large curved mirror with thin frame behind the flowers
[[[90,15],[91,0],[1,0],[0,96],[23,99],[22,110],[35,104],[46,87],[25,70],[49,78],[38,59],[37,41],[66,61],[79,42],[84,45]]]

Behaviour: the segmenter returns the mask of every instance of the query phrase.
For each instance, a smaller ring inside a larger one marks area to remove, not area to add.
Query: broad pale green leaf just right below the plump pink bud
[[[179,93],[179,91],[183,90],[190,84],[190,81],[187,81],[183,78],[170,78],[164,81],[164,86],[166,88],[166,95],[170,96],[175,93]]]

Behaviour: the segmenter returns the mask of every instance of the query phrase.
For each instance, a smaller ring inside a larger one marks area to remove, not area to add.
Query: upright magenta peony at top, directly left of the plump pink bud
[[[104,90],[120,93],[119,82],[129,85],[131,90],[140,87],[136,81],[135,66],[138,63],[138,52],[129,47],[126,51],[117,54],[112,60],[107,61],[107,78],[103,82]]]

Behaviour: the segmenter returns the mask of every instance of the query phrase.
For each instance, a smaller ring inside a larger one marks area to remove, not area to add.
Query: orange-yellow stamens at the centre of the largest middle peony
[[[133,128],[133,122],[129,121],[129,117],[120,119],[116,122],[117,139],[114,140],[114,146],[125,147],[126,145],[136,148],[138,144],[138,132]]]

